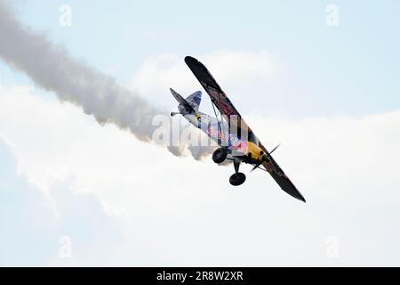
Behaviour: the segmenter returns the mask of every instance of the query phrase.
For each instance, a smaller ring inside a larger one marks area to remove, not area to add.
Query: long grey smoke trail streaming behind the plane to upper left
[[[81,61],[43,34],[24,27],[0,1],[0,58],[20,69],[36,85],[57,94],[60,101],[80,106],[100,124],[113,123],[128,128],[141,141],[149,142],[156,126],[152,119],[166,114],[132,94],[112,77],[99,72]],[[174,155],[182,156],[186,146],[168,147]],[[195,159],[201,154],[189,151]]]

